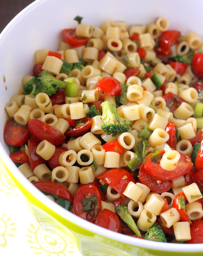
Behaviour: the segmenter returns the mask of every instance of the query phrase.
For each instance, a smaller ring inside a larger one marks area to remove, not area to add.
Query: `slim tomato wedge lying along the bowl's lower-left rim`
[[[70,191],[62,183],[51,180],[40,180],[34,182],[33,185],[42,192],[58,195],[59,198],[72,201]]]

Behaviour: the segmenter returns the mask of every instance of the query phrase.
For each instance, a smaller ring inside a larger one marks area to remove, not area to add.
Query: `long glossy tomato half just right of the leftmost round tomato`
[[[60,131],[36,118],[29,119],[28,128],[32,136],[34,136],[37,140],[48,140],[48,142],[55,146],[62,145],[66,139],[65,135],[63,135]]]

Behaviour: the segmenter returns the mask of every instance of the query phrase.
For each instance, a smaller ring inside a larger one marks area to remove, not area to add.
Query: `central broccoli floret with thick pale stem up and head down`
[[[127,132],[130,129],[131,123],[125,118],[118,115],[116,106],[108,101],[101,103],[102,116],[104,124],[101,125],[103,131],[107,135],[115,137],[119,133]]]

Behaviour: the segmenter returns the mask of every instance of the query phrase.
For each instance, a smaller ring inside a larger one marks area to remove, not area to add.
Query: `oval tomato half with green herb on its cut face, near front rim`
[[[89,207],[87,205],[89,204]],[[93,185],[80,187],[73,199],[73,213],[90,222],[96,221],[101,211],[101,196],[99,189]]]

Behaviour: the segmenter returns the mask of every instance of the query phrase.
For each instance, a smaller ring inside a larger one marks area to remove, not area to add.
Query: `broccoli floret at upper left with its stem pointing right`
[[[58,88],[66,88],[68,85],[65,81],[55,78],[47,70],[42,71],[36,81],[39,92],[46,93],[48,96],[56,93]]]

